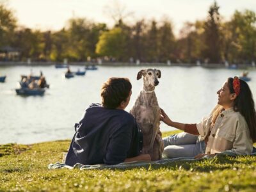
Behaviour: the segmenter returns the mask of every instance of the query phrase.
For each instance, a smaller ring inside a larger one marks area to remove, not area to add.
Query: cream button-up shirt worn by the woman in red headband
[[[220,153],[226,150],[236,154],[251,154],[253,142],[250,138],[248,125],[241,113],[232,108],[222,111],[211,128],[212,115],[203,118],[196,124],[200,140],[209,135],[205,149],[206,154]]]

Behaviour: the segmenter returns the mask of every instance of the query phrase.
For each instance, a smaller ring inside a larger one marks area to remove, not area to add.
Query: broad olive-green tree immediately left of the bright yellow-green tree
[[[106,31],[106,24],[93,24],[86,19],[77,18],[68,21],[68,28],[52,34],[49,58],[54,61],[86,61],[95,58],[95,46],[99,35]]]

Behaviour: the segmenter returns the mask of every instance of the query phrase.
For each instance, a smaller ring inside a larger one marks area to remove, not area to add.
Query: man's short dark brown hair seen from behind
[[[132,84],[127,78],[112,77],[101,88],[101,99],[104,108],[116,109],[122,101],[126,101],[132,90]]]

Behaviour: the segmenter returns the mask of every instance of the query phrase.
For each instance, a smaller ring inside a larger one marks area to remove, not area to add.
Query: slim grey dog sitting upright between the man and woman
[[[155,86],[159,84],[161,71],[156,68],[140,70],[137,80],[143,76],[143,89],[138,95],[130,113],[136,118],[143,133],[142,154],[150,154],[152,161],[162,158],[164,149],[160,131],[160,108],[158,106]]]

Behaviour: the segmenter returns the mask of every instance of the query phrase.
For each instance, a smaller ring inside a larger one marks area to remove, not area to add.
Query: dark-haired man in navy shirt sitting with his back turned
[[[75,125],[65,163],[118,164],[150,161],[140,154],[143,139],[134,117],[124,109],[131,98],[132,85],[126,78],[110,78],[101,89],[102,104],[92,104]]]

